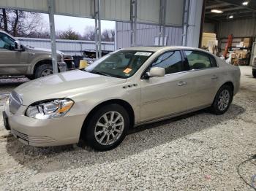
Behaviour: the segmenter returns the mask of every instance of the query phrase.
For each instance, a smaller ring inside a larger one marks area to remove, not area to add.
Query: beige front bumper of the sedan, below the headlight
[[[10,130],[18,141],[36,147],[49,147],[78,143],[80,130],[86,116],[75,115],[49,120],[38,120],[24,115],[26,106],[20,106],[15,114],[5,108]]]

